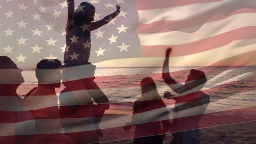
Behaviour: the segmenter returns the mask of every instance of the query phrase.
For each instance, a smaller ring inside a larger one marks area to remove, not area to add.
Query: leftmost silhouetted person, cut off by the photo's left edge
[[[0,143],[28,143],[36,129],[33,116],[16,93],[24,82],[22,70],[9,57],[0,56],[0,71]]]

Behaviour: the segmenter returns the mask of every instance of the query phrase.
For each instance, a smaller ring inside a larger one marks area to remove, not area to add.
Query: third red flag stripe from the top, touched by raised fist
[[[186,43],[181,45],[159,45],[159,46],[144,46],[142,45],[143,57],[162,57],[165,56],[165,50],[167,47],[172,47],[172,57],[191,55],[208,50],[213,50],[221,46],[228,45],[232,41],[240,39],[255,39],[256,26],[242,27],[235,29],[234,31],[222,33],[211,38],[194,41],[192,43]],[[193,47],[193,49],[190,49]]]

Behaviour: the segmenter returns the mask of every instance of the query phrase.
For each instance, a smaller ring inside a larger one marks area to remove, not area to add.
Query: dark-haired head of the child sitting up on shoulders
[[[86,23],[87,25],[94,21],[95,7],[88,2],[82,2],[79,4],[75,11],[74,24]]]

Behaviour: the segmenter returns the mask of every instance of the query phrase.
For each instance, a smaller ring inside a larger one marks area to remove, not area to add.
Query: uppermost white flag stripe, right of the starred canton
[[[197,3],[190,5],[183,5],[180,7],[173,8],[161,8],[161,9],[151,9],[151,10],[138,10],[139,22],[142,23],[152,23],[154,21],[181,21],[189,20],[195,16],[202,15],[208,11],[218,9],[224,6],[232,7],[233,4],[246,4],[256,6],[254,0],[224,0],[219,2],[211,3]]]

